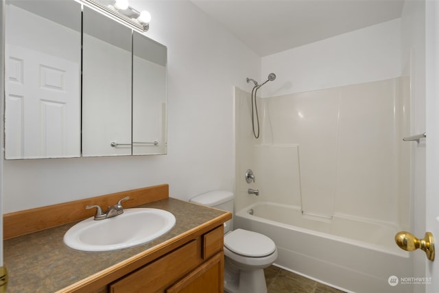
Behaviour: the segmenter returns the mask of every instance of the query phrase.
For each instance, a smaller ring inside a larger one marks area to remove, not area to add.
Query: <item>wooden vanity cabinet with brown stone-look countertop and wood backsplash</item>
[[[93,216],[84,207],[108,207],[127,196],[125,208],[169,211],[176,226],[162,241],[126,250],[84,253],[65,246],[66,231]],[[231,218],[226,211],[169,198],[166,184],[8,213],[3,215],[8,292],[223,293],[223,223]]]

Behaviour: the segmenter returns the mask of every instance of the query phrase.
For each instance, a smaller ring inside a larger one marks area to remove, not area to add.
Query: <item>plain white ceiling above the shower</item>
[[[193,0],[259,56],[397,19],[404,0]]]

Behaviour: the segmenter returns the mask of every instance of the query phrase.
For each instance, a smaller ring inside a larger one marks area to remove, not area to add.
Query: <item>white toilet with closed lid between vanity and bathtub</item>
[[[233,213],[233,193],[211,191],[190,201]],[[277,258],[273,240],[260,233],[233,230],[233,220],[224,224],[224,289],[229,293],[266,293],[263,269]]]

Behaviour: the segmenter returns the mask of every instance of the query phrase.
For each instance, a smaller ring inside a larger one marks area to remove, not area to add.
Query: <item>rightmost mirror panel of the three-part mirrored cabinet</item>
[[[132,154],[166,154],[167,48],[132,36]]]

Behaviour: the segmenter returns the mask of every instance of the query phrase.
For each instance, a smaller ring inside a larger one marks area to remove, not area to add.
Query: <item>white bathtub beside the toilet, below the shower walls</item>
[[[414,290],[412,284],[391,286],[388,281],[413,276],[409,253],[394,244],[396,225],[348,215],[303,215],[300,207],[257,202],[235,213],[234,226],[272,238],[278,248],[276,266],[340,290]]]

